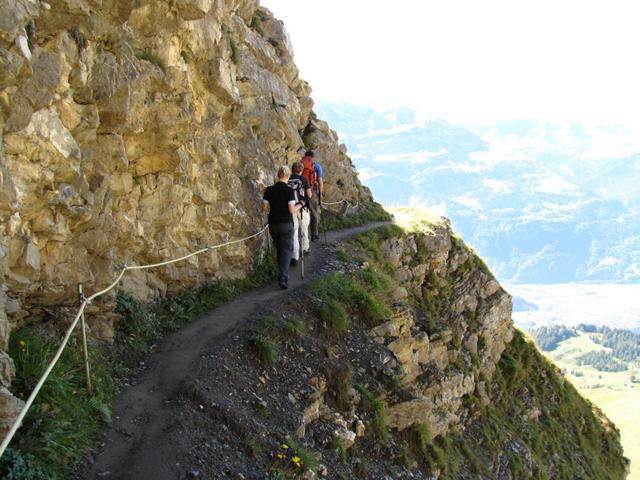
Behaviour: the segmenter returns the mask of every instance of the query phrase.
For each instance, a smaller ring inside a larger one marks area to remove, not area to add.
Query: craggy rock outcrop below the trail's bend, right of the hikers
[[[447,222],[386,240],[383,249],[396,271],[398,305],[411,295],[423,306],[398,308],[370,333],[389,352],[381,373],[401,392],[387,399],[389,426],[425,422],[437,436],[464,423],[465,396],[489,401],[485,382],[513,338],[511,297]]]

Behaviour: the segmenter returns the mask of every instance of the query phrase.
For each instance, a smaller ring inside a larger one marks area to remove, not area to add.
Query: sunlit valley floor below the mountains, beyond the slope
[[[629,480],[640,479],[640,359],[625,362],[621,371],[602,371],[585,364],[581,357],[591,352],[615,354],[594,341],[584,324],[640,332],[640,285],[556,284],[508,285],[513,295],[514,323],[534,335],[541,328],[557,331],[567,327],[575,336],[541,350],[560,367],[580,393],[615,423],[620,430],[625,455],[631,460]]]

